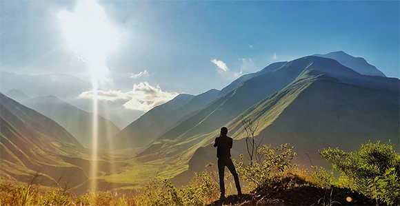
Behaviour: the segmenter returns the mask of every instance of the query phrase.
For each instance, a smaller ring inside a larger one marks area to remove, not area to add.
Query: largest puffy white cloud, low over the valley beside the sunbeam
[[[170,101],[177,92],[165,92],[161,90],[159,85],[152,86],[148,82],[141,82],[134,84],[132,91],[121,92],[121,91],[97,91],[97,99],[105,101],[117,101],[119,99],[128,100],[123,104],[124,107],[130,110],[139,110],[147,112],[157,105],[161,105]],[[81,98],[92,98],[93,91],[83,92],[79,95]]]

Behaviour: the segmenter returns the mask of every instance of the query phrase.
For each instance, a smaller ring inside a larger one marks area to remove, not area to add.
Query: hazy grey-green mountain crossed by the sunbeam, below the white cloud
[[[93,113],[79,110],[77,107],[61,101],[56,96],[40,96],[28,101],[23,105],[48,116],[50,119],[63,126],[84,147],[92,147],[92,125]],[[98,121],[98,143],[106,143],[120,129],[108,119],[97,114]]]

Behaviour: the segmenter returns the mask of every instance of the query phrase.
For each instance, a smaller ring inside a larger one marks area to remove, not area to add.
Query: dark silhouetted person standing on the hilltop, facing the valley
[[[222,127],[219,137],[215,138],[214,147],[217,147],[217,158],[218,158],[218,173],[219,173],[219,189],[221,191],[221,197],[225,198],[225,183],[223,182],[223,176],[225,175],[225,166],[228,167],[230,173],[234,178],[234,184],[236,185],[237,194],[241,195],[241,187],[239,183],[239,176],[237,176],[236,169],[230,159],[230,149],[233,145],[233,139],[228,134],[228,128]]]

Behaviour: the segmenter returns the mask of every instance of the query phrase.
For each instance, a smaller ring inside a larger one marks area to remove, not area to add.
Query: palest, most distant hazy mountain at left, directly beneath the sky
[[[59,96],[61,99],[76,98],[92,85],[70,74],[27,75],[0,71],[1,92],[16,89],[31,97]]]

